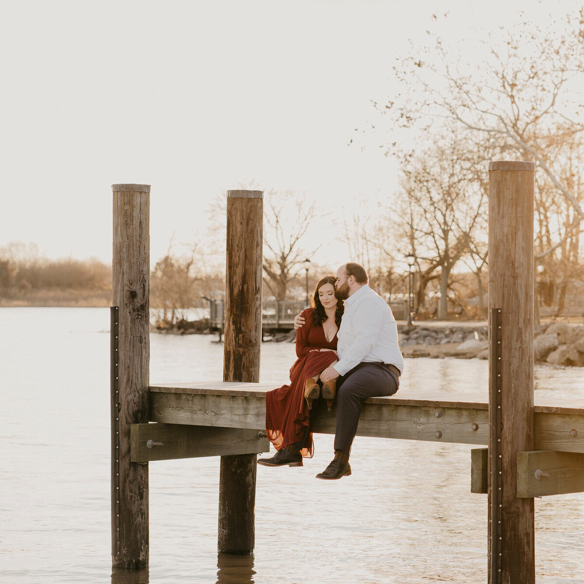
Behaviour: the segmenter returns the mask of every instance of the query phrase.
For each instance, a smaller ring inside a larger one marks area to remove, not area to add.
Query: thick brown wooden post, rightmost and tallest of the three
[[[533,162],[489,165],[489,583],[535,582],[533,499],[517,452],[533,450]]]

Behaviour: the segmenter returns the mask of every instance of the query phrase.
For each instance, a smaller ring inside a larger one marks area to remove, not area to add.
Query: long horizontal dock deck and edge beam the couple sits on
[[[267,387],[221,382],[150,388],[150,421],[258,429],[265,425]],[[358,436],[488,444],[487,404],[423,399],[370,398]],[[584,409],[535,406],[534,442],[540,450],[584,453]],[[437,416],[439,414],[439,416]],[[319,411],[314,431],[335,433],[332,412]],[[439,432],[439,434],[437,434]]]

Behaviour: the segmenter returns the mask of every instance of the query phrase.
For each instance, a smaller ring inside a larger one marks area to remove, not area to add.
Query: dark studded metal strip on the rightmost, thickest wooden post
[[[503,553],[503,462],[501,449],[501,310],[491,308],[489,311],[489,328],[491,330],[491,346],[489,354],[489,403],[491,404],[491,441],[489,455],[491,457],[491,582],[502,582]]]

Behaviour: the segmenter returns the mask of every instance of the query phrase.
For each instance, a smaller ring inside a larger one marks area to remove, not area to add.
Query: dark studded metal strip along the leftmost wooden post
[[[119,314],[110,307],[110,404],[112,412],[112,555],[120,554]]]

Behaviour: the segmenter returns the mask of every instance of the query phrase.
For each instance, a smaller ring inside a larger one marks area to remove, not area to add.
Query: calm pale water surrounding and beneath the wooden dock
[[[357,437],[353,475],[258,467],[255,557],[217,555],[219,459],[150,464],[150,571],[111,571],[109,310],[0,309],[0,582],[486,582],[486,495],[470,446]],[[220,380],[209,336],[151,337],[151,381]],[[261,381],[285,383],[294,345],[262,346]],[[406,360],[400,392],[481,394],[487,363]],[[579,398],[584,371],[536,369],[536,396]],[[584,583],[584,494],[536,499],[537,582]]]

